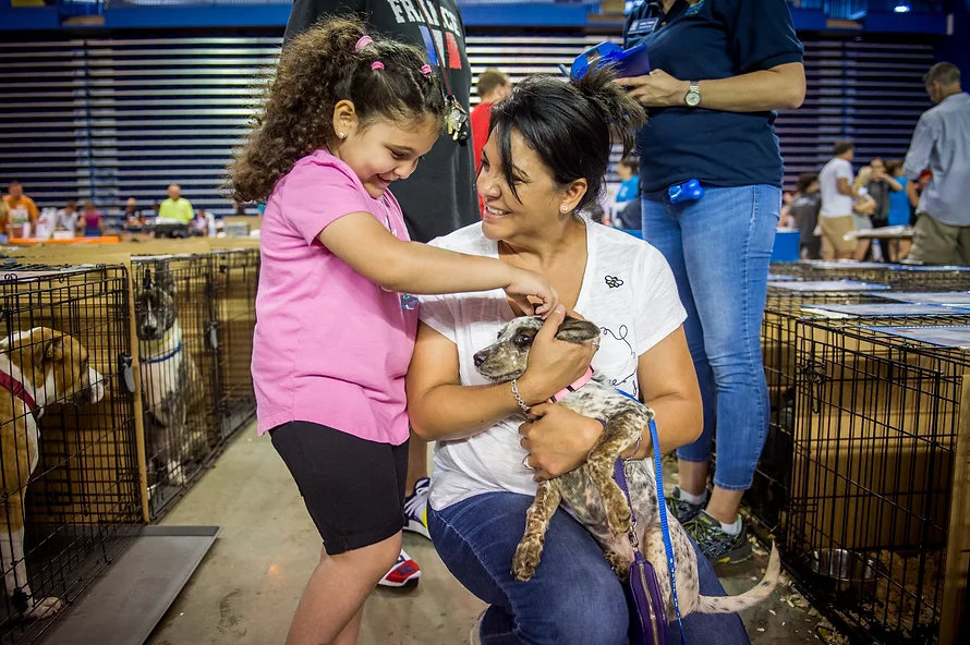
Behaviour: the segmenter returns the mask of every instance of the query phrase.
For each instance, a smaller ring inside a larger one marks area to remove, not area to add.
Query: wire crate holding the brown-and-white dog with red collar
[[[39,637],[142,522],[130,306],[121,266],[0,267],[4,645]]]

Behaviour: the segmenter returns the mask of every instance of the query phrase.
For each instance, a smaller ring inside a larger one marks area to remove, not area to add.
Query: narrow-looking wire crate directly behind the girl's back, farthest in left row
[[[259,251],[217,250],[211,253],[215,280],[217,362],[221,395],[221,440],[226,441],[256,414],[251,363],[256,327]]]

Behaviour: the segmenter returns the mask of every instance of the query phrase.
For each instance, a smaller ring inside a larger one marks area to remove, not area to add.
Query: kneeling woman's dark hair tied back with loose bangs
[[[589,190],[578,205],[582,210],[599,199],[614,142],[623,156],[633,149],[636,129],[646,112],[614,83],[609,68],[587,73],[580,81],[531,76],[512,95],[492,108],[489,136],[498,137],[498,162],[512,195],[511,134],[518,132],[561,186],[585,179]]]

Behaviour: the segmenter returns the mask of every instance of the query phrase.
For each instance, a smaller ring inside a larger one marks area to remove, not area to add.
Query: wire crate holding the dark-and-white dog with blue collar
[[[149,513],[185,492],[222,442],[208,255],[132,258]]]

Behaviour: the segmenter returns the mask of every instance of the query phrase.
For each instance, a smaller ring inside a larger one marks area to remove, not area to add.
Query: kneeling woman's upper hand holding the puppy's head
[[[575,382],[593,362],[598,340],[573,343],[559,340],[556,332],[566,319],[566,308],[558,306],[535,334],[529,351],[525,374],[519,377],[519,393],[534,405],[548,401],[556,392]]]

